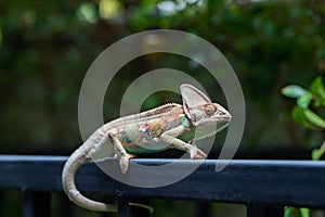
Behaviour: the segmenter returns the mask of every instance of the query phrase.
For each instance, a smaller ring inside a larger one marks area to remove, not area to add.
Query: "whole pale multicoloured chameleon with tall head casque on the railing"
[[[72,202],[90,210],[117,212],[116,205],[86,197],[75,183],[78,168],[91,161],[94,154],[102,152],[107,140],[119,158],[122,174],[128,171],[130,158],[166,149],[188,152],[191,158],[207,157],[195,145],[195,141],[227,127],[232,116],[197,88],[183,84],[180,90],[183,104],[168,103],[108,122],[68,157],[62,171],[62,186]]]

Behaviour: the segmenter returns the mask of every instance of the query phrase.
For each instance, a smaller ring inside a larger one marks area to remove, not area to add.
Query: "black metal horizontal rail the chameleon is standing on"
[[[61,173],[67,157],[0,155],[0,189],[23,191],[23,216],[49,216],[50,194],[62,191]],[[116,159],[107,159],[117,164]],[[164,165],[172,159],[132,159],[142,165]],[[128,179],[143,176],[132,169]],[[219,162],[220,163],[220,162]],[[166,176],[181,173],[180,168],[199,164],[179,161]],[[151,176],[145,175],[151,181]],[[179,182],[160,188],[135,188],[116,181],[93,163],[76,175],[79,190],[115,195],[119,201],[119,216],[150,216],[129,201],[145,203],[155,197],[196,200],[199,202],[237,203],[247,206],[247,216],[283,216],[285,206],[325,208],[325,162],[311,161],[232,161],[216,173],[216,161],[206,159]],[[144,202],[142,201],[144,200]]]

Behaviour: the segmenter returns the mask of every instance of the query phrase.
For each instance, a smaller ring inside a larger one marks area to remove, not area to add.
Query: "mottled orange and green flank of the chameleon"
[[[130,154],[159,152],[170,145],[159,136],[180,125],[185,129],[181,136],[188,137],[194,127],[185,116],[183,106],[174,104],[170,112],[156,114],[136,123],[122,124],[117,128],[116,136]]]

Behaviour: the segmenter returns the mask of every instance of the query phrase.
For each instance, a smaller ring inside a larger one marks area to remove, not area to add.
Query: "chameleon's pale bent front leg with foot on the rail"
[[[165,141],[166,143],[170,143],[172,148],[186,151],[190,153],[191,158],[206,158],[207,154],[204,153],[202,150],[196,148],[196,145],[188,144],[177,137],[180,136],[185,130],[185,127],[183,125],[180,125],[179,127],[176,127],[173,129],[170,129],[168,131],[165,131],[160,139]]]

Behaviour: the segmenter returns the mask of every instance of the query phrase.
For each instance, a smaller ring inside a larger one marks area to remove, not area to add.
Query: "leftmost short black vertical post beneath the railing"
[[[50,216],[51,192],[23,191],[23,217]]]

